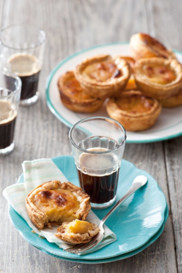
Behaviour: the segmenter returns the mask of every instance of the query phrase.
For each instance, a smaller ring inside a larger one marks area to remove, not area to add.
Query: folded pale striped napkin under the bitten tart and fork
[[[40,235],[41,237],[45,237],[49,242],[55,243],[60,248],[65,249],[70,247],[70,243],[65,243],[65,241],[55,237],[57,227],[53,227],[52,229],[44,228],[43,230],[37,229],[28,216],[25,204],[27,194],[38,185],[50,180],[60,180],[61,182],[68,180],[51,159],[24,161],[22,164],[22,169],[25,183],[20,183],[19,178],[16,184],[4,189],[4,197],[7,199],[12,208],[14,208],[14,210],[25,219],[27,224],[36,234]],[[91,210],[86,220],[95,224],[98,224],[100,221],[96,214]],[[93,250],[91,249],[85,251],[84,254],[96,251],[116,241],[116,239],[116,235],[106,225],[104,225],[104,238],[102,242],[100,242],[100,244],[98,244],[98,246]]]

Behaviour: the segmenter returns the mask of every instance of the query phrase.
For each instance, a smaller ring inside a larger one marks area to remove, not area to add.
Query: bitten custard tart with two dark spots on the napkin
[[[52,180],[33,189],[26,197],[26,208],[38,229],[75,219],[85,220],[91,208],[89,196],[70,182]]]

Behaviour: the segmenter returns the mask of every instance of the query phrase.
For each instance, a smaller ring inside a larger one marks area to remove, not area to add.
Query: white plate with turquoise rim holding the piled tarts
[[[50,73],[46,82],[46,100],[50,111],[68,127],[80,119],[90,116],[108,117],[103,106],[97,112],[91,114],[75,113],[67,109],[60,100],[57,88],[59,76],[68,70],[74,70],[75,66],[85,58],[97,54],[110,55],[130,55],[128,43],[113,43],[107,45],[98,45],[89,49],[82,50],[61,61]],[[182,52],[175,51],[178,60],[182,63]],[[142,132],[128,132],[127,142],[145,143],[166,140],[182,135],[182,106],[167,109],[163,108],[156,124],[148,130]]]

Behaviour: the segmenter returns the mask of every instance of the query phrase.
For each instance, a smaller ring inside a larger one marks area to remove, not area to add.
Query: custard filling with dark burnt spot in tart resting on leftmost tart
[[[112,61],[95,62],[88,65],[83,71],[84,77],[95,79],[98,82],[105,82],[112,78],[122,76],[121,70]]]

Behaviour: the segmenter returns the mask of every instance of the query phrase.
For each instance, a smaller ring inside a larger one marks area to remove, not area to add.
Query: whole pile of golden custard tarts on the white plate
[[[62,103],[91,113],[104,104],[128,131],[153,126],[162,107],[182,105],[182,65],[175,54],[145,33],[132,35],[131,56],[96,55],[58,79]]]

